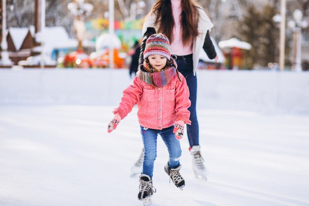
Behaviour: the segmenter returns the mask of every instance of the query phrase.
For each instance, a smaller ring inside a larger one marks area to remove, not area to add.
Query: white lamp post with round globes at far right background
[[[294,21],[289,21],[288,26],[293,29],[293,42],[294,42],[294,65],[295,71],[302,71],[302,28],[308,27],[308,23],[303,21],[303,12],[295,9],[293,12]]]

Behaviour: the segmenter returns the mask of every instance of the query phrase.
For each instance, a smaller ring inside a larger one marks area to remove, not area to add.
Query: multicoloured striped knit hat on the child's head
[[[165,35],[154,34],[147,39],[144,51],[144,59],[154,54],[164,56],[170,60],[171,48],[169,47],[169,41]]]

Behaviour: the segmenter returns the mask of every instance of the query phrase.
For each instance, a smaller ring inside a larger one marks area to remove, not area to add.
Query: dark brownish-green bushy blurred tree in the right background
[[[273,4],[267,4],[262,10],[251,4],[243,20],[239,21],[238,38],[252,45],[252,49],[245,52],[247,68],[253,68],[254,64],[265,67],[269,62],[278,62],[279,29],[273,21],[276,13],[277,8]],[[288,44],[286,47],[288,52]]]

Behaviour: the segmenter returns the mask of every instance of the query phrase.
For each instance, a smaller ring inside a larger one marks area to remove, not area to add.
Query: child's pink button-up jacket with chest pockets
[[[189,88],[184,76],[179,73],[179,77],[182,82],[176,73],[165,86],[154,87],[136,76],[133,84],[123,91],[121,102],[113,113],[120,115],[122,120],[137,104],[138,121],[143,127],[163,129],[178,120],[191,124]]]

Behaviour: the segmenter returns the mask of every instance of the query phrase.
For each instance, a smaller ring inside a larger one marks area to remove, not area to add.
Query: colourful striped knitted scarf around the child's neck
[[[151,68],[149,65],[144,61],[144,70],[141,69],[138,70],[136,76],[140,78],[143,82],[146,82],[150,85],[156,86],[156,87],[162,87],[168,84],[172,78],[175,76],[177,64],[174,60],[172,60],[172,66],[167,67],[159,72],[151,72]],[[152,77],[153,77],[153,83],[152,83]]]

